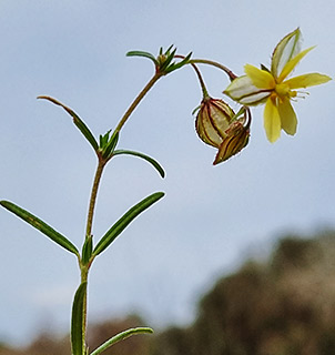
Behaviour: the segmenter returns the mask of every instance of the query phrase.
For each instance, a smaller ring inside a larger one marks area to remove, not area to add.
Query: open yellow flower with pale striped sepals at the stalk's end
[[[314,48],[300,50],[301,31],[288,33],[276,45],[271,70],[246,64],[246,75],[238,77],[224,91],[233,100],[244,105],[265,103],[264,129],[270,142],[275,142],[281,130],[294,135],[297,120],[291,100],[297,98],[296,89],[318,85],[331,80],[319,73],[308,73],[287,79],[297,63]]]

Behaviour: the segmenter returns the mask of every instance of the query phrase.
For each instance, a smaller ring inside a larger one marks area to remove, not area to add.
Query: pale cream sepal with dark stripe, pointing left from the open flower
[[[263,103],[271,92],[256,88],[247,75],[243,75],[233,80],[223,93],[242,104],[256,105]]]

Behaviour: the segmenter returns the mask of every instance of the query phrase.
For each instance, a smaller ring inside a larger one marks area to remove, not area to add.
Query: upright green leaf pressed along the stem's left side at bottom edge
[[[84,344],[84,304],[87,296],[88,283],[83,282],[79,285],[72,305],[72,320],[71,320],[71,348],[72,355],[85,354]]]

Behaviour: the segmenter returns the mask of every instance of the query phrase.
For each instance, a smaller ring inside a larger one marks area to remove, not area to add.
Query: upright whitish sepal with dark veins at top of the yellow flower
[[[301,51],[301,30],[297,28],[285,36],[272,53],[271,72],[278,78],[285,64]]]

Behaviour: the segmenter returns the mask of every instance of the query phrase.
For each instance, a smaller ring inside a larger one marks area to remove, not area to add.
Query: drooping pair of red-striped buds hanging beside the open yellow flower
[[[241,115],[243,116],[241,118]],[[243,108],[237,114],[219,99],[204,98],[196,115],[200,139],[219,149],[214,165],[237,154],[248,142],[251,114]]]

